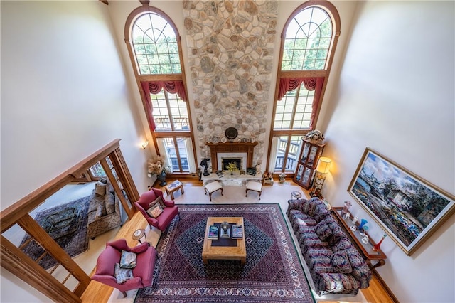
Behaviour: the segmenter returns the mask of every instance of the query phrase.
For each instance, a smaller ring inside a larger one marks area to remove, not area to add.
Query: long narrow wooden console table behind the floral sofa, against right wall
[[[343,210],[342,207],[332,207],[333,216],[343,225],[343,228],[346,230],[350,238],[354,241],[355,246],[358,247],[359,252],[365,257],[368,266],[371,268],[379,267],[385,265],[385,259],[387,256],[385,255],[382,250],[373,250],[373,246],[376,245],[375,241],[373,241],[368,236],[368,243],[362,242],[362,236],[360,235],[360,231],[358,230],[358,223],[353,223],[351,218],[345,219],[343,218],[341,211]],[[350,227],[355,225],[357,228],[355,231],[351,230]],[[368,233],[365,235],[368,235]],[[371,261],[375,261],[373,264]]]

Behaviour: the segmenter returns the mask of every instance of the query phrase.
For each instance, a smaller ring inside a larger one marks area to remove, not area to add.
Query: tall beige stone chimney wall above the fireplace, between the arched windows
[[[225,137],[259,142],[253,163],[262,164],[270,91],[277,1],[183,1],[196,146]]]

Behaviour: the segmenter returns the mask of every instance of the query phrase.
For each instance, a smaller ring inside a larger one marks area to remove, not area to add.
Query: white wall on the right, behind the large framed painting
[[[454,11],[453,1],[367,1],[353,20],[325,104],[334,165],[324,193],[335,206],[353,201],[375,240],[382,229],[346,191],[365,147],[455,194]],[[455,302],[454,240],[455,216],[411,256],[388,237],[378,272],[400,302]]]

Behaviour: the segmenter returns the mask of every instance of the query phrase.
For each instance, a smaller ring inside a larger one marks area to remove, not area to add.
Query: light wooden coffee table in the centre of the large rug
[[[207,238],[208,228],[210,225],[215,223],[228,222],[237,225],[242,225],[243,238],[242,239],[230,239],[231,241],[237,241],[235,246],[215,246],[215,241]],[[245,227],[243,225],[243,217],[208,217],[207,225],[205,226],[204,235],[204,246],[202,249],[202,260],[204,264],[208,264],[208,260],[240,260],[242,264],[245,264],[247,260],[247,249],[245,248]]]

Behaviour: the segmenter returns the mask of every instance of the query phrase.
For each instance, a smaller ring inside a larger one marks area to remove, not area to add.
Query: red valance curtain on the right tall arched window
[[[311,78],[281,78],[279,79],[279,90],[278,100],[282,100],[282,97],[291,90],[296,90],[297,87],[304,83],[307,90],[316,90],[314,92],[314,100],[311,111],[311,123],[310,127],[313,126],[314,118],[319,106],[319,99],[321,98],[322,85],[324,83],[324,77],[311,77]]]

